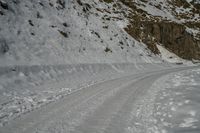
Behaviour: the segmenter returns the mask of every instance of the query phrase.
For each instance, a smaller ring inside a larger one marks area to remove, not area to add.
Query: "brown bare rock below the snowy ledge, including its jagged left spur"
[[[144,42],[155,54],[159,54],[156,44],[162,44],[183,59],[200,59],[200,40],[188,33],[184,25],[165,21],[140,21],[132,25],[134,26],[129,25],[125,30]]]

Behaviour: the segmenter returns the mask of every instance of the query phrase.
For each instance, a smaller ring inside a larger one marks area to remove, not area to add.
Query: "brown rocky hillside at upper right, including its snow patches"
[[[151,0],[123,3],[131,8],[130,24],[125,30],[138,41],[144,42],[153,53],[159,54],[157,45],[163,45],[183,59],[200,60],[199,3],[167,0],[166,3],[171,9],[162,9],[164,3],[158,4]],[[153,9],[149,10],[151,7],[156,9],[155,12]],[[159,16],[158,12],[163,13],[161,10],[166,10],[164,13],[169,13],[173,18]],[[188,32],[188,28],[192,28],[191,32]]]

